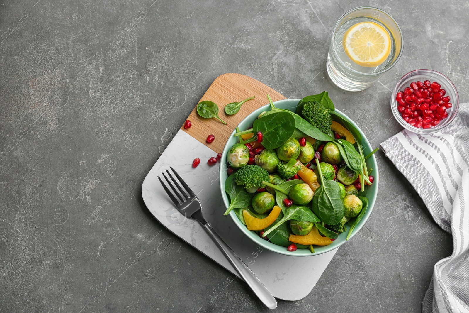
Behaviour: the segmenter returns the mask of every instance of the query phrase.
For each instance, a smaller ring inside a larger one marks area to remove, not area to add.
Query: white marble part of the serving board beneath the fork
[[[179,130],[144,179],[142,196],[151,214],[176,236],[237,275],[199,222],[182,216],[166,195],[157,176],[172,166],[197,194],[206,221],[275,298],[293,301],[306,297],[337,249],[308,257],[292,257],[258,247],[242,233],[230,216],[223,215],[226,207],[220,195],[220,163],[209,166],[207,160],[212,156],[216,156],[216,153],[209,147]],[[195,158],[200,158],[201,162],[197,168],[192,168],[192,160]]]

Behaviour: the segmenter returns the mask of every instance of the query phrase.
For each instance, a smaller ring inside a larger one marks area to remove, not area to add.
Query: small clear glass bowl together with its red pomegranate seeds
[[[396,84],[391,109],[394,118],[405,129],[417,134],[432,134],[453,122],[459,109],[459,96],[445,75],[431,69],[416,69],[402,76]]]

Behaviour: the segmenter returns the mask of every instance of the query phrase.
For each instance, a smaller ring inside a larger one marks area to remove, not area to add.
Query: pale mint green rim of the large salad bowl
[[[282,99],[282,100],[278,100],[278,101],[275,101],[275,103],[277,104],[280,104],[281,102],[298,102],[300,101],[301,99]],[[262,107],[259,107],[257,108],[256,110],[254,110],[253,112],[251,112],[249,115],[247,115],[245,118],[242,119],[242,121],[239,123],[241,124],[242,122],[244,122],[246,119],[252,117],[253,115],[259,115],[261,112],[264,112],[264,111],[267,111],[267,109],[270,108],[270,105],[269,104],[266,104],[265,106],[262,106]],[[352,121],[352,119],[350,119],[347,115],[345,115],[344,113],[342,113],[340,110],[338,109],[335,109],[335,111],[337,113],[339,113],[341,116],[345,117],[348,119],[349,122],[352,123],[352,125],[354,125],[357,130],[359,131],[359,133],[362,135],[362,145],[363,145],[363,142],[366,143],[366,146],[367,147],[371,147],[371,144],[370,142],[368,141],[368,138],[365,136],[365,134],[363,133],[363,131],[358,127],[358,125],[356,125],[356,123],[354,121]],[[239,124],[237,126],[239,126]],[[227,139],[227,143],[225,144],[224,148],[223,148],[223,152],[222,152],[222,157],[221,159],[222,160],[226,160],[226,155],[227,155],[227,151],[229,150],[229,148],[231,147],[228,147],[228,141],[234,136],[234,133],[236,132],[236,129],[234,129],[232,131],[232,133],[230,134],[230,136],[228,137]],[[370,148],[370,151],[372,149]],[[373,166],[373,174],[374,174],[374,177],[375,177],[375,181],[373,182],[373,185],[376,186],[376,188],[374,189],[373,191],[373,197],[368,197],[369,198],[369,204],[368,204],[368,209],[367,209],[367,212],[365,213],[365,215],[363,216],[362,220],[360,221],[360,223],[356,226],[356,228],[353,230],[353,233],[351,234],[349,240],[354,237],[363,227],[363,225],[366,223],[366,221],[368,221],[368,218],[370,217],[371,215],[371,212],[373,211],[373,207],[376,203],[376,198],[377,198],[377,194],[378,194],[378,184],[379,184],[379,171],[378,171],[378,162],[376,160],[376,157],[375,157],[375,154],[373,154],[368,160],[370,160],[369,162],[370,163],[374,163],[376,164],[376,166]],[[223,164],[226,164],[226,163],[220,163],[220,166],[219,166],[219,186],[220,186],[220,192],[221,192],[221,196],[222,196],[222,199],[223,199],[223,204],[225,205],[225,208],[227,208],[229,206],[229,203],[228,203],[228,197],[227,197],[227,194],[225,192],[225,189],[224,189],[224,183],[225,181],[223,180],[223,172],[226,173],[226,171],[224,171],[224,169],[226,169],[226,167],[223,166]],[[225,179],[226,180],[226,179]],[[368,196],[368,195],[367,195]],[[283,247],[283,246],[280,246],[280,245],[277,245],[277,244],[273,244],[269,241],[266,241],[264,239],[262,239],[261,237],[257,236],[257,235],[253,235],[254,232],[251,231],[251,230],[248,230],[246,228],[246,226],[244,224],[242,224],[242,222],[238,219],[238,217],[236,216],[236,214],[234,213],[234,210],[232,210],[229,215],[231,216],[231,218],[233,219],[234,223],[236,224],[236,226],[241,229],[241,231],[244,233],[244,235],[246,235],[247,237],[249,237],[252,241],[256,242],[257,244],[259,244],[260,246],[262,246],[263,248],[267,249],[267,250],[270,250],[272,252],[277,252],[277,253],[280,253],[280,254],[284,254],[284,255],[288,255],[288,256],[295,256],[295,257],[307,257],[307,256],[315,256],[315,255],[319,255],[319,254],[322,254],[322,253],[326,253],[326,252],[330,252],[330,251],[333,251],[337,248],[339,248],[342,244],[345,244],[347,242],[347,240],[345,241],[341,241],[340,244],[338,245],[334,245],[334,244],[330,244],[330,245],[327,245],[327,246],[324,246],[325,248],[324,249],[321,249],[319,251],[316,251],[316,253],[310,253],[308,249],[297,249],[296,251],[294,252],[290,252],[290,251],[287,251],[286,247]],[[340,234],[342,235],[342,234]],[[337,239],[336,239],[337,240]],[[305,252],[307,251],[307,252]]]

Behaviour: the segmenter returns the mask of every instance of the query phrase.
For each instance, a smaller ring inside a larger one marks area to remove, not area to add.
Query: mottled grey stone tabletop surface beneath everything
[[[327,80],[325,56],[336,20],[362,5],[396,17],[404,54],[368,90],[343,92]],[[375,146],[401,130],[389,98],[409,70],[441,71],[468,99],[462,1],[3,0],[0,8],[0,312],[266,311],[155,221],[141,196],[144,176],[221,74],[252,76],[292,98],[327,90]],[[278,312],[420,311],[452,239],[377,158],[380,192],[366,226],[309,296],[279,301]]]

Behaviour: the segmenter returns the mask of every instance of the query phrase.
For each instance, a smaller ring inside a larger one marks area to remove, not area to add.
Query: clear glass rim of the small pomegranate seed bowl
[[[443,82],[446,83],[452,89],[452,91],[454,92],[454,96],[455,96],[455,99],[453,99],[452,101],[453,107],[451,107],[451,116],[448,116],[446,120],[443,120],[444,121],[443,123],[440,123],[436,127],[432,127],[426,130],[422,128],[416,128],[408,124],[406,121],[404,121],[401,114],[397,110],[398,103],[396,101],[397,93],[402,89],[404,81],[407,80],[410,76],[423,75],[423,74],[431,74],[432,76],[430,77],[429,80],[431,80],[431,78],[435,76],[439,76],[439,78],[441,78]],[[449,79],[446,75],[433,69],[414,69],[408,72],[407,74],[405,74],[404,76],[402,76],[401,79],[397,82],[396,86],[394,87],[393,93],[391,95],[391,110],[393,111],[393,116],[396,119],[396,121],[399,124],[401,124],[401,126],[404,127],[406,130],[411,131],[416,134],[433,134],[444,129],[446,126],[451,124],[451,122],[453,122],[454,118],[456,117],[456,114],[459,111],[459,94],[456,89],[456,86],[454,86],[451,79]]]

